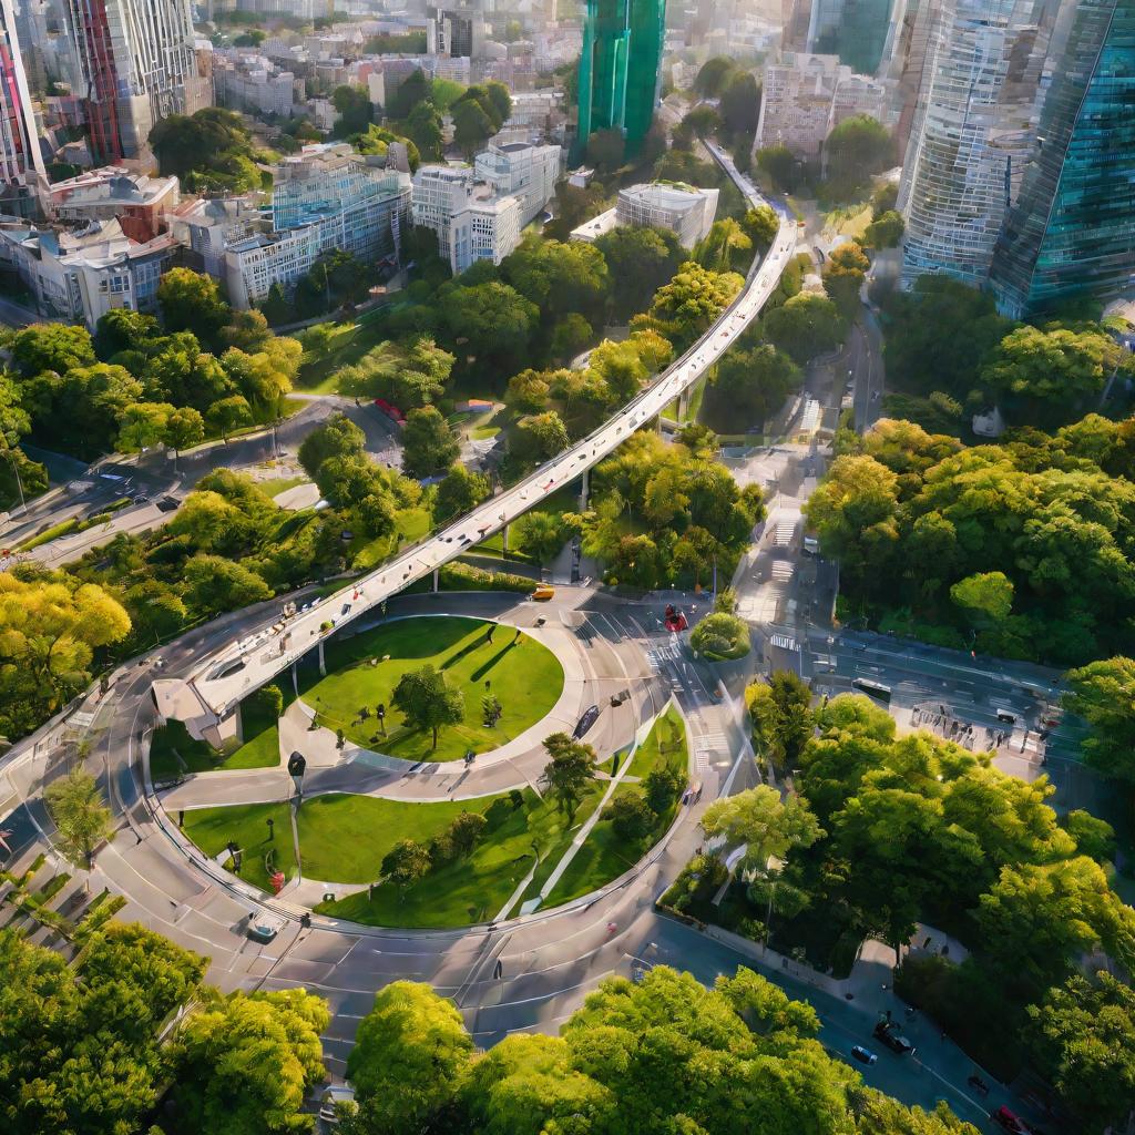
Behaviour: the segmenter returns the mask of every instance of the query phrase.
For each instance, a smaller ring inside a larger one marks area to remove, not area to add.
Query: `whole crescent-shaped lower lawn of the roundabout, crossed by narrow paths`
[[[320,903],[319,914],[373,926],[463,926],[515,915],[522,901],[544,892],[543,906],[558,906],[629,871],[673,823],[681,790],[667,797],[659,812],[649,813],[633,838],[614,818],[616,801],[641,793],[646,779],[659,770],[670,771],[675,785],[684,787],[688,759],[684,722],[670,707],[633,758],[622,755],[622,760],[630,760],[624,773],[630,779],[615,788],[550,889],[546,884],[592,818],[609,782],[592,781],[571,818],[550,797],[541,799],[531,788],[436,802],[328,793],[303,801],[295,816],[295,840],[289,806],[283,802],[193,809],[185,814],[184,832],[229,871],[226,848],[235,843],[243,852],[241,877],[266,890],[272,869],[288,880],[302,869],[305,878],[330,884],[361,886],[384,880],[372,891],[362,889]],[[473,822],[476,835],[466,847],[455,847],[452,833],[465,813],[484,821]],[[387,856],[406,841],[423,854],[421,868],[402,881],[384,878],[390,868]]]

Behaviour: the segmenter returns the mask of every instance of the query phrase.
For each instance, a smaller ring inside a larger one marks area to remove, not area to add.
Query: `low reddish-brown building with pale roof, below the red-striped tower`
[[[56,220],[86,224],[117,219],[132,241],[144,243],[165,232],[166,215],[179,200],[176,177],[148,177],[120,166],[104,166],[56,182],[44,205]]]

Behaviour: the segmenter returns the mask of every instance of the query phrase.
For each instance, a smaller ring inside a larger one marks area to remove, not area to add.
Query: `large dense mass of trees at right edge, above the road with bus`
[[[882,420],[843,439],[807,513],[865,613],[993,655],[1084,663],[1126,648],[1135,611],[1130,431],[1092,417],[967,449]]]

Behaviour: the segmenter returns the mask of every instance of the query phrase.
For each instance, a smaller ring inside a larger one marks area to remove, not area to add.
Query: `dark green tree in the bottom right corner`
[[[1069,977],[1028,1007],[1040,1067],[1085,1127],[1120,1128],[1135,1110],[1135,990],[1101,970]]]

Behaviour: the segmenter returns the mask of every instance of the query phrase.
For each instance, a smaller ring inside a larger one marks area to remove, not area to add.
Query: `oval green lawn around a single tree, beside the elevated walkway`
[[[309,667],[308,684],[301,687],[318,723],[404,760],[455,760],[470,749],[498,748],[546,716],[564,687],[563,667],[546,646],[523,633],[518,639],[513,628],[480,619],[400,619],[351,638],[331,639],[325,654],[327,676],[319,678]],[[402,675],[426,665],[444,673],[465,697],[464,721],[440,731],[437,749],[430,731],[405,726],[393,704]],[[488,693],[503,706],[493,729],[485,725],[481,709]],[[386,706],[385,737],[376,716],[380,704]]]

